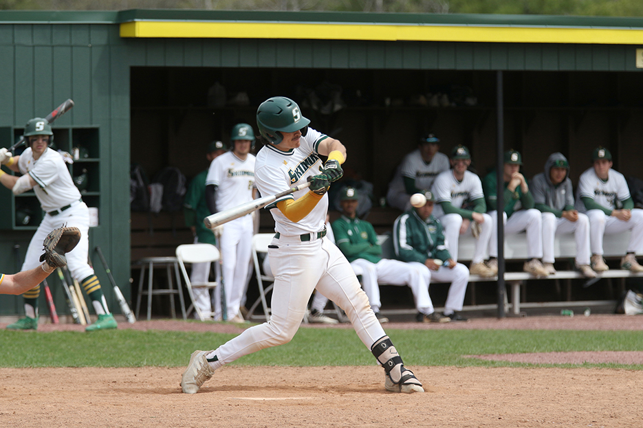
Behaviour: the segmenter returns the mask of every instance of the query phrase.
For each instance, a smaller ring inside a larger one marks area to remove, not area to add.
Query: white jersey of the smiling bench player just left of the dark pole
[[[450,202],[454,207],[461,208],[467,201],[484,198],[482,181],[471,171],[464,172],[462,181],[455,179],[453,170],[440,172],[433,181],[431,191],[437,202],[433,208],[433,216],[437,218],[444,216],[441,202]]]

